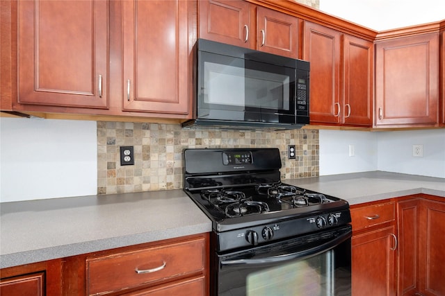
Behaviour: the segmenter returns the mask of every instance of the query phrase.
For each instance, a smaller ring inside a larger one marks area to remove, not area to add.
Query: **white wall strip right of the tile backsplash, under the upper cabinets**
[[[349,156],[349,144],[355,156]],[[412,146],[423,145],[423,157]],[[445,129],[400,132],[320,130],[320,175],[388,171],[445,178]]]

